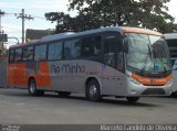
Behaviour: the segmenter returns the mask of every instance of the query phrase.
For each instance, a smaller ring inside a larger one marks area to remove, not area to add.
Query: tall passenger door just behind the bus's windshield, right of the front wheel
[[[103,46],[102,94],[115,95],[116,36],[106,34]]]

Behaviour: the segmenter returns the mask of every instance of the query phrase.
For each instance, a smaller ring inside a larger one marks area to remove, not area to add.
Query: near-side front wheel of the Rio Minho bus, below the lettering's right
[[[100,85],[96,79],[92,79],[86,85],[85,97],[90,101],[97,102],[102,99]]]

